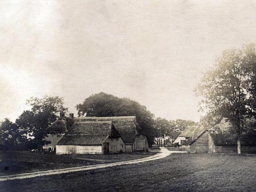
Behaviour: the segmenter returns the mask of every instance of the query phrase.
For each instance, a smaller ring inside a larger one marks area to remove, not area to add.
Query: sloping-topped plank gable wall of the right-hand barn
[[[190,153],[208,153],[209,133],[205,132],[193,144],[190,145]]]

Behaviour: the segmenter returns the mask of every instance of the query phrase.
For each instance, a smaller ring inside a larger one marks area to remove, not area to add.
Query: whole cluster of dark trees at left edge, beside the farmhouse
[[[15,123],[5,119],[0,124],[0,144],[7,149],[35,149],[42,147],[48,126],[67,111],[63,98],[44,96],[27,100],[31,110],[24,111]]]

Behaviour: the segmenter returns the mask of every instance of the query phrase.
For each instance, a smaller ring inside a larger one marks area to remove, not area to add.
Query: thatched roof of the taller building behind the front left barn
[[[140,129],[135,116],[118,117],[76,117],[76,122],[112,121],[125,144],[132,144]]]

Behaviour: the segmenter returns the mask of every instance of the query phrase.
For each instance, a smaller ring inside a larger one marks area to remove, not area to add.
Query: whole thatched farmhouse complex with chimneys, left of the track
[[[71,118],[73,121],[70,127],[65,118],[61,116],[49,127],[55,127],[59,132],[46,137],[51,144],[45,145],[44,149],[56,148],[56,154],[108,154],[148,150],[147,137],[139,134],[140,127],[135,116],[74,118],[70,114],[68,120]]]

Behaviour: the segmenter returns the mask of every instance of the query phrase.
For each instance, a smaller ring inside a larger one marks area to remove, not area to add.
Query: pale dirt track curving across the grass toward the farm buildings
[[[63,168],[63,169],[55,169],[55,170],[49,170],[49,171],[38,171],[38,172],[31,172],[31,173],[24,173],[24,174],[17,174],[17,175],[5,175],[5,176],[0,176],[0,181],[34,178],[34,177],[38,177],[38,176],[56,175],[56,174],[63,174],[63,173],[77,172],[77,171],[86,171],[86,170],[91,170],[91,169],[112,167],[112,166],[117,166],[117,165],[135,164],[135,163],[141,163],[141,162],[146,162],[146,161],[162,159],[162,158],[167,157],[171,153],[185,153],[185,152],[169,151],[166,148],[161,148],[160,153],[158,153],[156,155],[149,156],[149,157],[145,157],[142,159],[121,161],[121,162],[116,162],[116,163],[99,164],[99,165],[88,165],[88,166],[81,166],[81,167],[69,167],[69,168]]]

